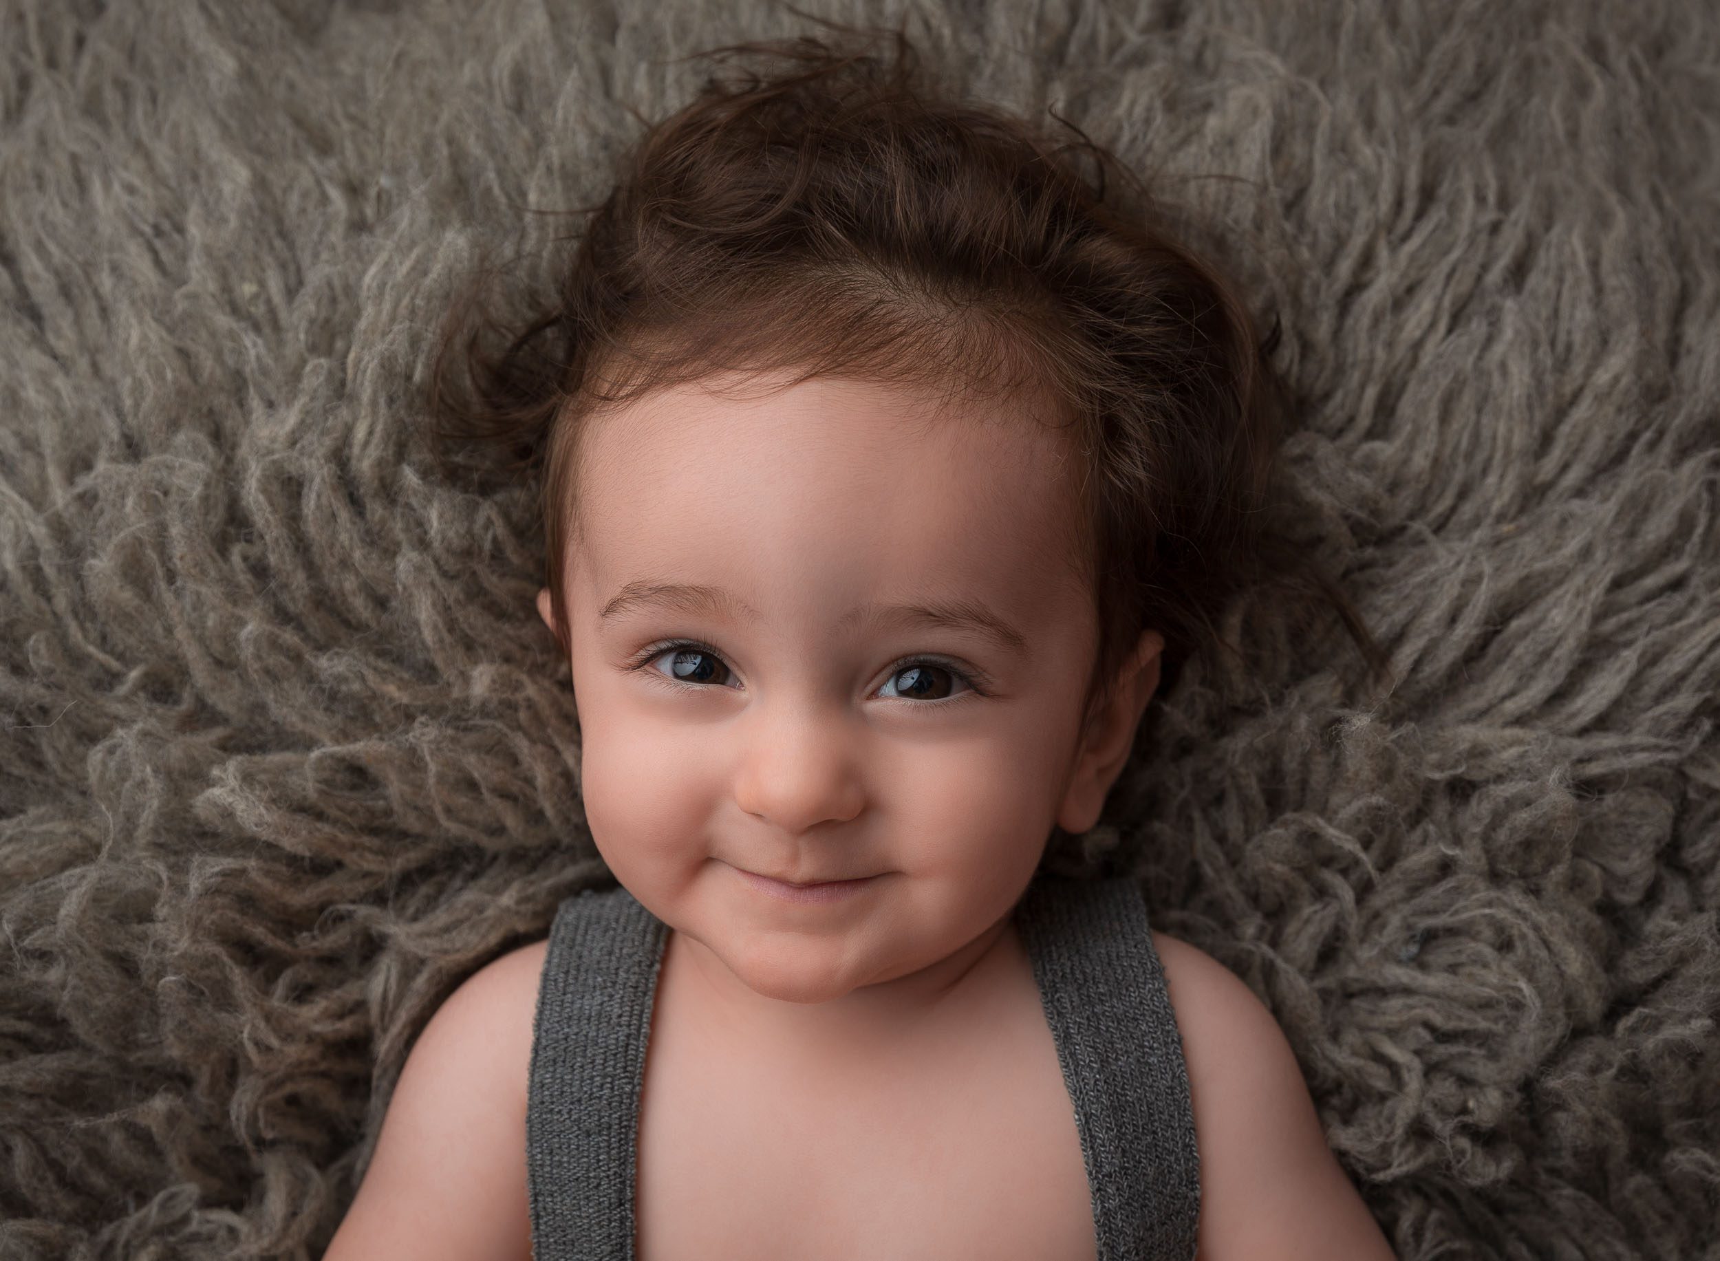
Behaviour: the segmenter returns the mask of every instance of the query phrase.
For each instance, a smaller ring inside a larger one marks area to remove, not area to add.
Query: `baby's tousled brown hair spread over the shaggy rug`
[[[581,421],[719,372],[1053,399],[1082,461],[1080,556],[1099,631],[1084,698],[1111,698],[1140,635],[1164,667],[1214,645],[1264,583],[1321,597],[1376,676],[1386,657],[1304,545],[1276,528],[1287,391],[1233,286],[1108,151],[927,83],[896,31],[710,48],[712,72],[616,163],[556,292],[509,325],[483,267],[432,368],[445,475],[542,468],[545,587],[569,652]],[[853,43],[858,36],[860,43]],[[889,45],[875,46],[879,36]],[[888,55],[886,55],[888,53]],[[1054,115],[1053,115],[1054,117]],[[1073,153],[1094,163],[1089,177]],[[483,334],[504,344],[487,349]],[[468,389],[454,380],[470,378]]]

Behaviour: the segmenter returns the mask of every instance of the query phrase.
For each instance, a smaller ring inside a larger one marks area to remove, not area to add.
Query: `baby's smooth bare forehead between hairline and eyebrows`
[[[574,513],[593,573],[760,569],[1042,576],[1077,547],[1061,435],[884,391],[664,391],[602,416]]]

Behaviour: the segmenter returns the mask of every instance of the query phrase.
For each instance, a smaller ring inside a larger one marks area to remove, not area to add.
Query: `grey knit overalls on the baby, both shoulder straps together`
[[[1015,924],[1075,1110],[1099,1261],[1192,1261],[1189,1073],[1140,888],[1041,872]],[[633,1261],[645,1043],[667,939],[621,886],[556,913],[526,1099],[533,1261]]]

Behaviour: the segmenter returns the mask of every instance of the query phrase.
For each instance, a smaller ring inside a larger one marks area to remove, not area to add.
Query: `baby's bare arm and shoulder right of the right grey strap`
[[[1199,946],[1152,934],[1189,1068],[1201,1153],[1197,1261],[1391,1261],[1338,1165],[1283,1029]]]

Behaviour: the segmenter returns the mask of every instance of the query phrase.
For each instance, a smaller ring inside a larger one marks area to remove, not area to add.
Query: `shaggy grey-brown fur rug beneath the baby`
[[[605,877],[531,487],[432,478],[427,354],[667,58],[807,29],[0,5],[0,1256],[316,1256],[435,1006]],[[1407,1261],[1715,1256],[1720,9],[908,33],[1202,212],[1402,676],[1238,607],[1261,671],[1183,671],[1063,860],[1266,1000]]]

